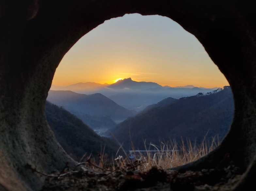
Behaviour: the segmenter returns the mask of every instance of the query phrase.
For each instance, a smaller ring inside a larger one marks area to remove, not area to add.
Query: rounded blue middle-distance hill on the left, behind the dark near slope
[[[100,93],[86,95],[72,91],[50,90],[47,100],[58,106],[63,106],[85,123],[88,115],[124,120],[136,114],[135,111],[125,109]]]

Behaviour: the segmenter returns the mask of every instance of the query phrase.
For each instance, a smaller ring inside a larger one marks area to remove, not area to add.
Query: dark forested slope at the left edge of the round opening
[[[80,159],[85,153],[100,153],[104,145],[106,153],[110,155],[118,149],[113,141],[98,136],[80,119],[63,108],[46,102],[45,114],[58,142],[76,159]]]

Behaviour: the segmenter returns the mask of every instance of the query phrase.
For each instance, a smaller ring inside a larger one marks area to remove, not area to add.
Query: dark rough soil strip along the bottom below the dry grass
[[[222,169],[203,169],[184,173],[157,168],[152,168],[148,172],[136,170],[95,172],[83,167],[79,170],[66,169],[65,172],[55,172],[47,176],[42,191],[229,191],[240,177],[241,172],[234,165]]]

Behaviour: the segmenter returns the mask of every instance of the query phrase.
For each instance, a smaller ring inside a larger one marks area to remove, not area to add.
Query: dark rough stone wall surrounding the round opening
[[[26,164],[49,172],[67,161],[75,163],[47,125],[47,92],[60,60],[78,39],[104,20],[126,13],[177,21],[197,37],[232,87],[235,116],[229,134],[216,151],[179,170],[205,169],[229,158],[246,170],[256,154],[254,7],[242,1],[205,0],[1,1],[0,188],[40,189],[43,180]],[[250,168],[251,176],[255,165]]]

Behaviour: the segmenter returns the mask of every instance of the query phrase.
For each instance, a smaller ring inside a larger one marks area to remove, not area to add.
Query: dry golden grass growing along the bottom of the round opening
[[[116,170],[138,170],[148,171],[153,166],[160,169],[170,169],[173,167],[181,166],[186,163],[195,161],[200,157],[207,155],[209,152],[214,150],[218,145],[219,141],[213,138],[210,143],[203,141],[202,143],[194,143],[191,141],[182,141],[180,146],[178,143],[170,142],[165,144],[160,142],[159,145],[150,144],[149,148],[145,146],[145,152],[137,152],[133,149],[132,155],[135,157],[133,160],[129,158],[130,154],[125,152],[122,146],[118,150],[115,157],[110,162],[107,156],[104,155],[104,148],[99,155],[98,160],[95,157],[87,157],[88,168],[95,171],[116,171]],[[132,148],[133,144],[131,143]],[[152,152],[152,150],[154,150]],[[122,155],[120,153],[123,153]],[[98,162],[96,162],[98,161]]]

